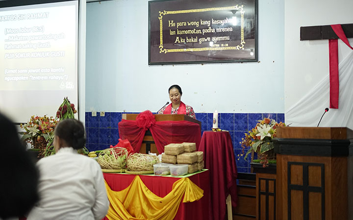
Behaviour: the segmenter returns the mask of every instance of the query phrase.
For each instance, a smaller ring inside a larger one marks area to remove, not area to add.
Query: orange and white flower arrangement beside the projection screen
[[[57,122],[58,120],[56,118],[54,119],[47,115],[43,117],[33,115],[26,124],[20,125],[20,127],[25,130],[25,132],[20,132],[23,134],[21,140],[31,144],[34,149],[38,149],[41,157],[47,147],[50,136],[54,134],[54,128]]]

